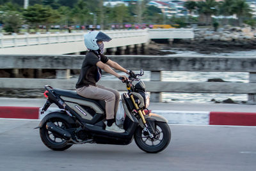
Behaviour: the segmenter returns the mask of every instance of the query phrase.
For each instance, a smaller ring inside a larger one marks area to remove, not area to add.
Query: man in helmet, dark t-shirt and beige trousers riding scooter
[[[119,128],[115,123],[120,94],[115,89],[96,84],[100,80],[102,70],[115,75],[115,77],[121,80],[128,80],[125,75],[119,75],[111,67],[127,74],[134,74],[132,71],[125,70],[118,63],[104,56],[103,41],[110,40],[111,38],[101,31],[90,31],[84,34],[84,45],[88,48],[89,52],[86,54],[81,67],[76,84],[76,92],[84,98],[106,101],[106,130],[124,133],[125,130]]]

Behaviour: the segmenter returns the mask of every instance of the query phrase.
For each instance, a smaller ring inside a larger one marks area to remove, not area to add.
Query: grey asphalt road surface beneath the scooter
[[[256,127],[170,125],[170,145],[157,154],[129,145],[73,145],[51,151],[39,121],[0,119],[0,170],[255,170]]]

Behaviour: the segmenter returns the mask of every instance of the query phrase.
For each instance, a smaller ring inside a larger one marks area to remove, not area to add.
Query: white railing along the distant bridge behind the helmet
[[[0,35],[0,48],[24,47],[31,45],[45,45],[52,43],[67,43],[83,41],[83,34],[88,31],[77,33],[46,33],[46,34],[24,34],[12,36]],[[173,38],[194,38],[193,29],[134,29],[134,30],[104,30],[113,39],[145,37],[148,39],[173,39]],[[137,44],[132,42],[132,44]]]

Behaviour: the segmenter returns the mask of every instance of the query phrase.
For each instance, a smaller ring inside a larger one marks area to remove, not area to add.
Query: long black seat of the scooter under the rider
[[[105,109],[106,102],[104,100],[93,100],[90,98],[84,98],[83,96],[79,96],[76,91],[71,91],[71,90],[65,90],[65,89],[52,89],[54,93],[60,95],[60,96],[67,96],[70,98],[77,98],[85,101],[92,101],[99,107],[101,107],[103,110]]]

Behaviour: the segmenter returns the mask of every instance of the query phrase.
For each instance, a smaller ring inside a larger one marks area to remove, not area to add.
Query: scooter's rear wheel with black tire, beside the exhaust
[[[40,128],[40,137],[42,142],[44,142],[44,144],[46,145],[46,147],[54,151],[64,151],[71,147],[72,144],[67,144],[67,140],[59,138],[58,136],[54,135],[54,133],[46,129],[47,122],[52,122],[56,124],[56,126],[60,126],[61,128],[71,128],[71,125],[64,119],[55,117],[47,120],[42,126],[42,128]],[[59,140],[60,142],[57,142],[56,140]]]

